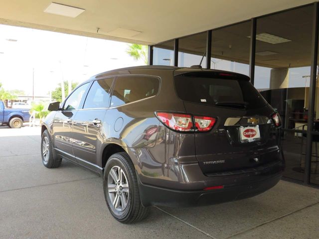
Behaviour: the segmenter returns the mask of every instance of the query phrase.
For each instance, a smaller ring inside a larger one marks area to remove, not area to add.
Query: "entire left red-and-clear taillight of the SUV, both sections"
[[[170,129],[176,131],[199,131],[207,132],[212,129],[216,119],[205,116],[194,116],[188,114],[157,112],[156,116]],[[195,123],[194,123],[194,121]]]

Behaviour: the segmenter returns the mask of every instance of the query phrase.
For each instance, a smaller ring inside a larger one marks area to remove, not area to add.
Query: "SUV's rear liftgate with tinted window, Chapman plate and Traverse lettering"
[[[175,89],[185,110],[216,118],[209,132],[195,132],[196,157],[204,172],[237,170],[272,160],[277,153],[272,134],[273,109],[239,74],[193,72],[175,76]]]

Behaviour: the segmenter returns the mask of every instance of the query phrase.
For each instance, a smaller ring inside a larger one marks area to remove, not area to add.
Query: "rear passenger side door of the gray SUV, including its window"
[[[104,142],[102,129],[104,118],[110,106],[110,90],[113,78],[94,81],[86,97],[83,109],[73,120],[73,151],[76,160],[86,167],[99,164],[97,152]],[[92,165],[94,164],[94,165]]]

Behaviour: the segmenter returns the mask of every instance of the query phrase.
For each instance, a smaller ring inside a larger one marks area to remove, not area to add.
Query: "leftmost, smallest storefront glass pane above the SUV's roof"
[[[174,41],[166,41],[153,48],[153,65],[174,65]]]

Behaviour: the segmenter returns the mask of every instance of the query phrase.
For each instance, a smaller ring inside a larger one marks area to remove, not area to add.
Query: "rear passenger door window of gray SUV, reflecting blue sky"
[[[113,79],[98,80],[92,84],[84,103],[84,109],[109,107]]]

